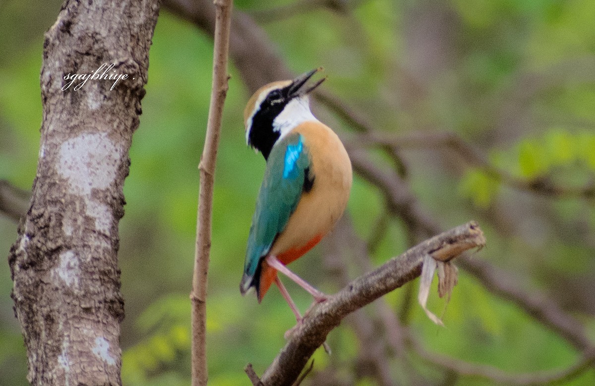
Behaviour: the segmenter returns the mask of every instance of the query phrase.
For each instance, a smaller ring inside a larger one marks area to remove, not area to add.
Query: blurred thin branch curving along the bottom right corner
[[[454,371],[462,376],[484,378],[504,385],[544,385],[559,384],[583,374],[595,363],[595,351],[585,352],[580,359],[566,369],[555,371],[536,371],[526,374],[509,374],[508,372],[488,365],[469,363],[464,360],[453,359],[446,355],[428,352],[422,344],[409,334],[407,343],[427,362],[440,368]]]

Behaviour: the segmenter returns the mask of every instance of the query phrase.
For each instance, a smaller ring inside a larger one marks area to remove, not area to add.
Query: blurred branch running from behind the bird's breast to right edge
[[[358,135],[352,142],[359,146],[375,145],[383,148],[389,146],[395,149],[447,148],[455,151],[468,164],[483,170],[490,178],[518,190],[554,198],[595,197],[595,185],[592,184],[588,186],[569,187],[555,185],[547,176],[530,180],[515,177],[506,172],[506,170],[493,166],[493,164],[488,162],[486,157],[481,155],[480,151],[477,151],[472,145],[466,143],[459,135],[453,132],[417,132],[398,137],[375,132],[374,134]]]

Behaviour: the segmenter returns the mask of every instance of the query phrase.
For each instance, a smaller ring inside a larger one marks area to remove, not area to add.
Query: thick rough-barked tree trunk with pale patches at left
[[[34,385],[121,384],[118,222],[158,10],[158,0],[65,1],[45,36],[39,162],[9,256]],[[127,79],[67,87],[64,77],[102,64]]]

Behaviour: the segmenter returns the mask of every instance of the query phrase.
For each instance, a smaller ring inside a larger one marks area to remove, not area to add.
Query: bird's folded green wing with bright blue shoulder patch
[[[301,134],[290,133],[273,146],[252,217],[244,276],[240,283],[242,293],[257,286],[256,271],[261,258],[267,255],[277,235],[285,229],[303,189],[311,187],[310,166],[308,148]]]

